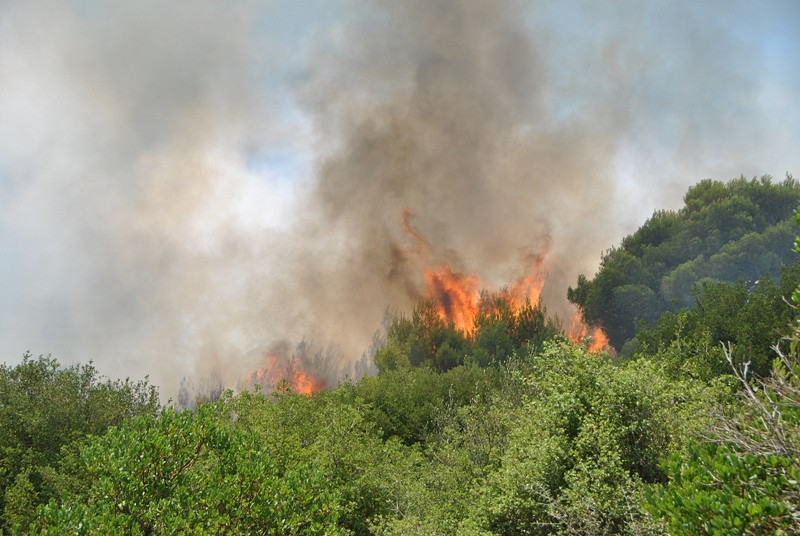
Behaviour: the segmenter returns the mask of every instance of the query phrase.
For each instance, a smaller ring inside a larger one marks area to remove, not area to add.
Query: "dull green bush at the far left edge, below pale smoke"
[[[0,520],[23,525],[37,505],[76,485],[59,472],[78,442],[135,415],[152,415],[158,394],[145,381],[103,379],[88,365],[62,367],[23,356],[0,365]]]

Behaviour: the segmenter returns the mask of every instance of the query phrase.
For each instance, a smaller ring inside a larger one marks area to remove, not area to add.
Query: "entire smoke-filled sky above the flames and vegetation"
[[[295,345],[357,375],[420,237],[489,287],[541,269],[566,315],[689,184],[798,164],[791,2],[298,4],[0,3],[4,359],[166,396]]]

